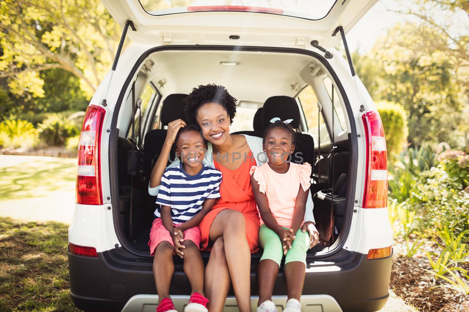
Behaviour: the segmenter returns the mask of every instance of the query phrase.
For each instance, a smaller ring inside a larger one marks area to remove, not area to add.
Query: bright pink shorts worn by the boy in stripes
[[[176,224],[175,226],[181,225]],[[194,226],[189,230],[184,231],[184,240],[192,240],[197,247],[200,246],[200,229],[198,226]],[[150,241],[148,242],[148,246],[150,246],[150,255],[153,256],[155,254],[155,249],[162,241],[170,242],[171,245],[174,247],[173,238],[166,227],[163,225],[163,221],[161,218],[156,218],[153,220],[153,224],[151,225],[150,230]]]

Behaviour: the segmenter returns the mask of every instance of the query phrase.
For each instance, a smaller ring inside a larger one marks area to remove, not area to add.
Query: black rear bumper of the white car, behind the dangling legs
[[[70,295],[78,308],[85,311],[121,311],[129,299],[136,295],[156,295],[152,259],[122,258],[119,257],[119,249],[98,253],[98,258],[68,254]],[[314,305],[318,304],[324,308],[325,305],[329,306],[330,301],[326,299],[329,297],[339,304],[343,312],[380,310],[389,296],[392,255],[383,259],[366,260],[366,254],[345,250],[340,252],[343,253],[340,261],[325,262],[327,260],[323,259],[308,263],[303,295],[315,296],[304,297],[305,301],[302,300],[302,303],[311,307],[310,309],[305,306],[304,311],[329,311],[313,309]],[[252,262],[255,262],[255,259]],[[255,272],[257,263],[253,264],[255,265],[251,268],[251,294],[253,302],[257,303],[254,298],[258,294]],[[177,261],[170,293],[181,296],[181,300],[178,300],[181,304],[187,303],[189,299],[190,284],[182,271],[182,263]],[[273,295],[279,296],[279,305],[286,299],[286,294],[285,279],[280,272],[273,290]],[[229,295],[234,295],[232,290]],[[135,304],[140,304],[140,308],[136,311],[147,311],[146,307],[154,304],[155,298],[157,297],[139,296],[132,301],[138,299]],[[142,305],[147,299],[150,301]],[[143,306],[145,308],[142,310]],[[154,311],[152,307],[151,311]]]

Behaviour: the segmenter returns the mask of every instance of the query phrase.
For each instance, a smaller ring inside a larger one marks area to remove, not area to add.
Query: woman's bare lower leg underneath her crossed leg
[[[208,311],[221,312],[230,289],[230,274],[228,272],[227,258],[223,237],[213,243],[210,258],[205,268],[205,296],[210,300]]]

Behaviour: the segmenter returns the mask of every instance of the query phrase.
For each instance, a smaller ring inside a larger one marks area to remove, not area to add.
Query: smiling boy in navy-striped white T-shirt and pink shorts
[[[197,125],[181,128],[174,142],[182,163],[166,169],[161,177],[156,201],[161,209],[155,211],[157,218],[151,226],[148,243],[151,255],[155,256],[153,274],[159,300],[156,311],[176,312],[169,297],[175,252],[184,259],[184,272],[192,288],[184,311],[207,312],[209,300],[203,291],[204,262],[199,251],[198,225],[220,197],[221,173],[202,163],[207,146]]]

